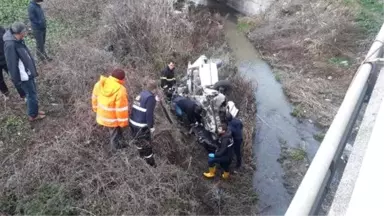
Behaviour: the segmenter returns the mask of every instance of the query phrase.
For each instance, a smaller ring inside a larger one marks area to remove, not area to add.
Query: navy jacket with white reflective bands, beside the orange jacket
[[[153,128],[155,106],[155,95],[147,90],[142,91],[140,95],[136,97],[135,102],[133,102],[131,118],[129,120],[131,126]]]

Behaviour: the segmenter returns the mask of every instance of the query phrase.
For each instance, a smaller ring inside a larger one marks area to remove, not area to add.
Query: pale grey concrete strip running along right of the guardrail
[[[328,216],[345,215],[347,212],[348,203],[350,202],[360,173],[366,148],[375,125],[376,116],[383,101],[383,95],[384,69],[380,71],[377,78],[376,85],[373,89],[369,104],[366,108],[363,120],[357,133],[353,150],[349,156],[348,163],[340,180],[340,184],[337,188]]]

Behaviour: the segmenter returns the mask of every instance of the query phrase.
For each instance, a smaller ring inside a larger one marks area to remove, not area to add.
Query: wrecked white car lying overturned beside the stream
[[[226,113],[238,114],[233,101],[228,101],[226,92],[231,88],[229,81],[219,81],[218,67],[221,62],[200,56],[193,64],[188,63],[187,75],[176,88],[174,94],[188,97],[203,108],[203,126],[196,126],[192,132],[197,135],[199,143],[205,147],[216,146],[218,126]],[[207,146],[208,145],[208,146]]]

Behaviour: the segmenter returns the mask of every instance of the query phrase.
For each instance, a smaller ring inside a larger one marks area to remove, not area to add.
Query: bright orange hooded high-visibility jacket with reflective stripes
[[[128,126],[128,97],[123,81],[101,76],[93,88],[92,109],[96,121],[105,127]]]

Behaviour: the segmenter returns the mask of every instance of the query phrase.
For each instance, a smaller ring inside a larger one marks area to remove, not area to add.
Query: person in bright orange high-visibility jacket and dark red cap
[[[115,69],[109,77],[101,76],[95,84],[92,94],[92,108],[96,113],[96,122],[109,128],[111,148],[121,148],[122,128],[128,126],[128,97],[124,87],[125,72]]]

